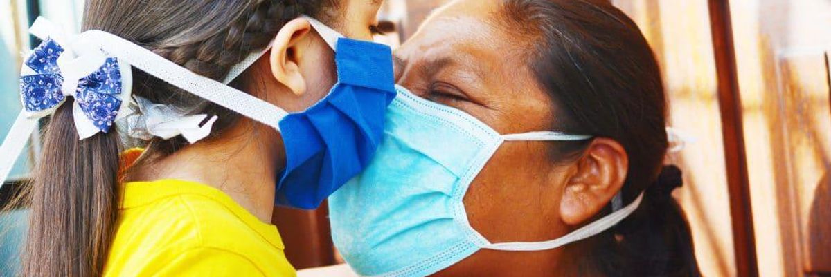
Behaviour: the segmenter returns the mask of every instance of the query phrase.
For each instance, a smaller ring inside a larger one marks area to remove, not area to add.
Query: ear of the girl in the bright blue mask
[[[306,41],[312,25],[305,18],[296,18],[283,26],[274,38],[268,61],[274,79],[288,87],[295,95],[306,93],[306,80],[300,70],[300,60],[305,55]]]

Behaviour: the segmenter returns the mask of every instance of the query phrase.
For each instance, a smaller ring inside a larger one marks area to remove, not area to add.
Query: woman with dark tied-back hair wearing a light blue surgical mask
[[[456,0],[396,56],[385,141],[329,202],[357,274],[700,275],[660,71],[617,8]]]

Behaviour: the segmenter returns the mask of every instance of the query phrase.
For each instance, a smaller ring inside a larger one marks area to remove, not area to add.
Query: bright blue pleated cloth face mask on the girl
[[[344,38],[316,20],[312,26],[335,51],[337,84],[317,104],[280,122],[286,169],[277,203],[313,209],[369,164],[396,97],[389,46]]]

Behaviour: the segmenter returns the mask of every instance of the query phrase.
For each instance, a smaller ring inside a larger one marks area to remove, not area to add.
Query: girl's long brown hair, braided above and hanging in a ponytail
[[[283,25],[309,14],[327,22],[338,0],[88,0],[83,29],[102,30],[144,46],[199,75],[221,80],[231,66],[267,46]],[[133,70],[133,94],[193,114],[217,114],[215,138],[238,114]],[[251,80],[250,73],[240,79]],[[248,78],[248,79],[247,79]],[[248,82],[234,84],[240,90]],[[103,274],[116,230],[122,143],[118,132],[78,140],[72,100],[52,115],[40,164],[23,194],[31,209],[22,258],[24,276]],[[164,157],[184,139],[150,141],[145,155]]]

